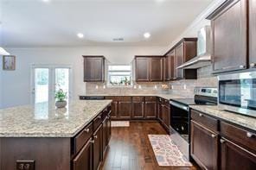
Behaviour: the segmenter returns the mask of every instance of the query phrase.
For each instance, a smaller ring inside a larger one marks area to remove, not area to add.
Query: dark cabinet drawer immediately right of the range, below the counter
[[[211,116],[207,116],[196,110],[191,110],[191,118],[196,123],[200,123],[208,129],[211,129],[215,132],[218,131],[218,120]]]

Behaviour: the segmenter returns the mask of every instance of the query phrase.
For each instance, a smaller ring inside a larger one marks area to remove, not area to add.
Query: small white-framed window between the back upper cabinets
[[[131,85],[131,65],[109,65],[108,85]]]

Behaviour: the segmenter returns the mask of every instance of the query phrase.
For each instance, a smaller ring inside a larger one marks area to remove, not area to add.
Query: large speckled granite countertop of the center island
[[[0,110],[0,137],[73,137],[112,100],[80,100],[66,108],[42,103]]]

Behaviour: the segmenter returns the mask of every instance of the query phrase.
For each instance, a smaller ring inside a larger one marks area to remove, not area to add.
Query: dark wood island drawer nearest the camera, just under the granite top
[[[78,153],[80,149],[86,144],[88,139],[93,135],[93,123],[82,129],[78,135],[74,137],[75,153]]]

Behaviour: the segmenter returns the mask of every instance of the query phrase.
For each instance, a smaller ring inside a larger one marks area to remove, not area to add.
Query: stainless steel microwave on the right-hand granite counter
[[[256,117],[256,72],[221,75],[218,80],[221,109]]]

